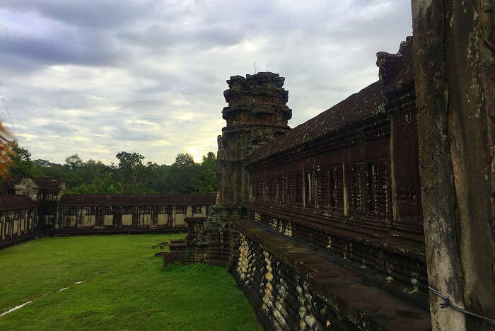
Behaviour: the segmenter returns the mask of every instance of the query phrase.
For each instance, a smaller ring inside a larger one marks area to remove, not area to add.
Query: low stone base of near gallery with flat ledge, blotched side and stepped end
[[[185,240],[164,265],[208,263],[233,273],[265,330],[429,330],[429,312],[375,286],[307,243],[215,206],[208,219],[186,219]],[[219,214],[224,214],[220,217]]]

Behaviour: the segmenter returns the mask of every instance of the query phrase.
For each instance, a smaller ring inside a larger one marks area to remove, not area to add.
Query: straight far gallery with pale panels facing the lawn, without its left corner
[[[215,194],[62,195],[54,231],[184,231],[186,217],[205,217]]]

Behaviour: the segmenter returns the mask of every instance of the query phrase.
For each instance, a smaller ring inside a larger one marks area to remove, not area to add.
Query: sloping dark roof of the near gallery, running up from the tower
[[[252,153],[250,162],[260,161],[269,156],[295,149],[328,134],[348,129],[353,124],[370,119],[378,113],[384,113],[384,104],[385,96],[382,93],[382,84],[380,81],[375,81],[329,110],[325,110],[320,115],[298,125],[277,139],[269,141]]]

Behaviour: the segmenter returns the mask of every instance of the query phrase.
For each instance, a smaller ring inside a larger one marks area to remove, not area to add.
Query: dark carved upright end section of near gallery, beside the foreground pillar
[[[378,52],[376,64],[390,116],[390,177],[395,223],[423,228],[419,187],[417,110],[414,102],[413,38],[399,52]]]

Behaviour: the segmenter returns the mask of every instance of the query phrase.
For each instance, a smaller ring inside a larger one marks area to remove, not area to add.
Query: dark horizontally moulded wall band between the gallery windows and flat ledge
[[[245,219],[305,243],[342,265],[359,269],[377,286],[428,308],[428,280],[421,241],[405,240],[402,233],[385,228],[349,226],[338,219],[322,218],[317,223],[315,214],[290,213],[288,209],[284,210],[285,214],[276,209],[255,210],[248,209]],[[330,222],[332,226],[328,226]]]

